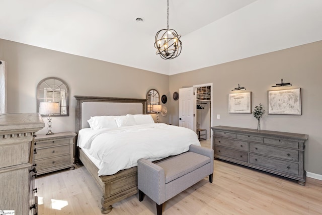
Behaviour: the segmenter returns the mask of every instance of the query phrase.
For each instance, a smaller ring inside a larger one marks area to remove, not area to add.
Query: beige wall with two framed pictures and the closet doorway
[[[257,128],[252,114],[228,113],[228,93],[240,84],[252,92],[252,110],[262,103],[267,112],[267,91],[290,82],[301,88],[302,115],[264,115],[261,128],[305,133],[305,170],[322,174],[322,41],[268,54],[197,69],[170,77],[170,92],[193,85],[213,83],[213,125]],[[279,88],[283,89],[283,88]],[[169,108],[173,124],[179,124],[179,100]],[[220,119],[216,115],[220,114]]]

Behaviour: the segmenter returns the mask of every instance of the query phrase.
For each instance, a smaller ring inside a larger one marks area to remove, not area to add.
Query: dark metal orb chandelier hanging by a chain
[[[173,59],[181,53],[181,35],[174,29],[169,29],[169,0],[168,0],[168,26],[167,29],[159,30],[155,35],[154,47],[156,54],[163,59]]]

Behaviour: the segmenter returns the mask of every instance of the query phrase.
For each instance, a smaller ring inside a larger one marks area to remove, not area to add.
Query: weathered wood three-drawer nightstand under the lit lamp
[[[56,170],[75,169],[73,164],[73,132],[40,134],[35,137],[35,164],[37,175]]]

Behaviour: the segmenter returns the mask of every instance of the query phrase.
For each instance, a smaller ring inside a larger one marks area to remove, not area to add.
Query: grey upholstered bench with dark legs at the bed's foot
[[[190,145],[189,152],[152,163],[137,162],[139,201],[144,194],[156,203],[157,215],[162,214],[165,201],[191,187],[206,176],[212,183],[213,150]]]

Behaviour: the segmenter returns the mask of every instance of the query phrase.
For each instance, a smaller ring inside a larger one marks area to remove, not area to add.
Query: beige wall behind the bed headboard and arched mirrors
[[[167,75],[8,40],[0,39],[0,59],[7,61],[8,112],[36,112],[36,87],[44,78],[57,77],[67,83],[69,116],[53,118],[54,132],[75,130],[74,95],[146,98],[152,88],[160,96],[170,95]],[[168,122],[168,116],[159,118]]]

